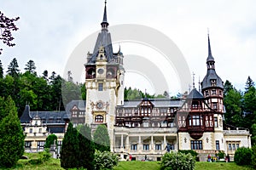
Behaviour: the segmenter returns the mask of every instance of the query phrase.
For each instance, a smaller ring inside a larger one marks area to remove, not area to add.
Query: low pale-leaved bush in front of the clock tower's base
[[[119,163],[119,156],[109,151],[96,150],[94,155],[95,169],[113,169]]]

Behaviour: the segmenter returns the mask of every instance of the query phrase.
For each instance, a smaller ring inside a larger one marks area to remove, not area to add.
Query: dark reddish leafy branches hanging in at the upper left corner
[[[6,44],[9,47],[15,46],[15,43],[12,42],[15,39],[12,36],[12,31],[17,31],[19,29],[17,26],[15,26],[15,21],[19,19],[20,17],[9,19],[0,11],[0,40],[3,42],[3,44]],[[3,48],[0,48],[0,54],[2,54],[2,50]]]

